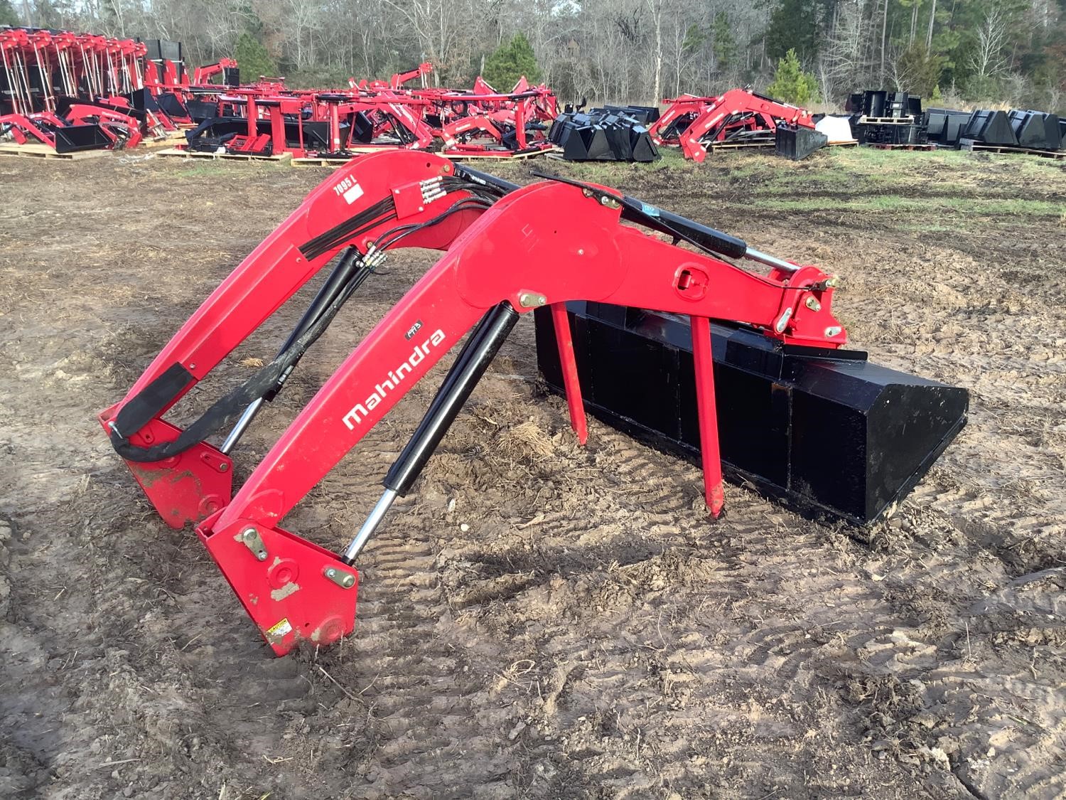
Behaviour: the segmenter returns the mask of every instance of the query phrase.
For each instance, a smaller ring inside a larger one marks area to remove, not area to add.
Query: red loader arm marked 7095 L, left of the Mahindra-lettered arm
[[[366,243],[398,221],[419,224],[439,214],[446,208],[440,202],[445,194],[437,196],[433,187],[452,170],[446,159],[409,151],[364,156],[338,170],[215,289],[126,397],[100,414],[113,439],[123,443],[119,454],[132,455],[126,461],[133,477],[168,525],[181,528],[225,506],[232,461],[229,447],[203,442],[206,434],[197,433],[192,446],[182,447],[178,438],[183,432],[162,418],[166,411],[342,247],[358,243],[366,253]],[[457,196],[462,204],[469,194]],[[461,205],[456,213],[417,230],[405,243],[442,250],[482,210]],[[243,398],[244,405],[258,399],[261,395]],[[242,410],[231,403],[212,420],[212,430],[231,422]],[[154,450],[146,458],[130,448]]]

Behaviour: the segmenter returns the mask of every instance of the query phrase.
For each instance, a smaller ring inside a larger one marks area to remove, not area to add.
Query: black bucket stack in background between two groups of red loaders
[[[643,106],[608,106],[585,112],[560,114],[548,140],[563,148],[567,161],[637,161],[659,158],[647,125],[659,110]]]

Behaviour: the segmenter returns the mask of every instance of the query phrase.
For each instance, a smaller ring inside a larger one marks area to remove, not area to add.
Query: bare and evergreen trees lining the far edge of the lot
[[[236,54],[296,86],[431,61],[440,85],[526,69],[563,99],[653,102],[765,89],[794,50],[826,102],[1066,105],[1066,0],[0,0],[4,22],[180,41],[191,65]]]

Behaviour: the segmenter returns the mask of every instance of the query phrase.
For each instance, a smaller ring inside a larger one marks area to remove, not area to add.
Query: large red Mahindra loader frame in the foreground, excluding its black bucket
[[[643,224],[677,246],[623,221]],[[230,500],[227,454],[280,388],[330,313],[395,246],[442,258],[359,343]],[[163,420],[192,386],[341,249],[278,356],[184,431]],[[724,260],[771,265],[769,276]],[[353,563],[392,499],[411,487],[520,315],[550,305],[571,423],[587,435],[565,303],[593,300],[692,319],[705,493],[723,503],[711,319],[746,322],[785,342],[836,348],[835,279],[613,190],[560,179],[518,188],[430,154],[356,159],[316,189],[211,294],[100,422],[161,516],[197,527],[274,652],[328,643],[353,629]],[[473,329],[437,397],[386,476],[386,491],[343,554],[280,526],[289,511]],[[280,378],[280,381],[278,380]],[[221,447],[204,439],[244,411]]]

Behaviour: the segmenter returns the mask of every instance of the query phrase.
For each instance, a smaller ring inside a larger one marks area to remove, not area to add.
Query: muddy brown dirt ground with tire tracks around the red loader
[[[1066,797],[1066,162],[549,165],[840,273],[852,342],[969,388],[968,427],[869,542],[734,485],[714,523],[693,465],[576,445],[524,320],[366,550],[354,636],[277,659],[95,414],[328,171],[0,159],[0,797]],[[360,290],[238,479],[431,260]],[[343,547],[423,384],[287,528]]]

